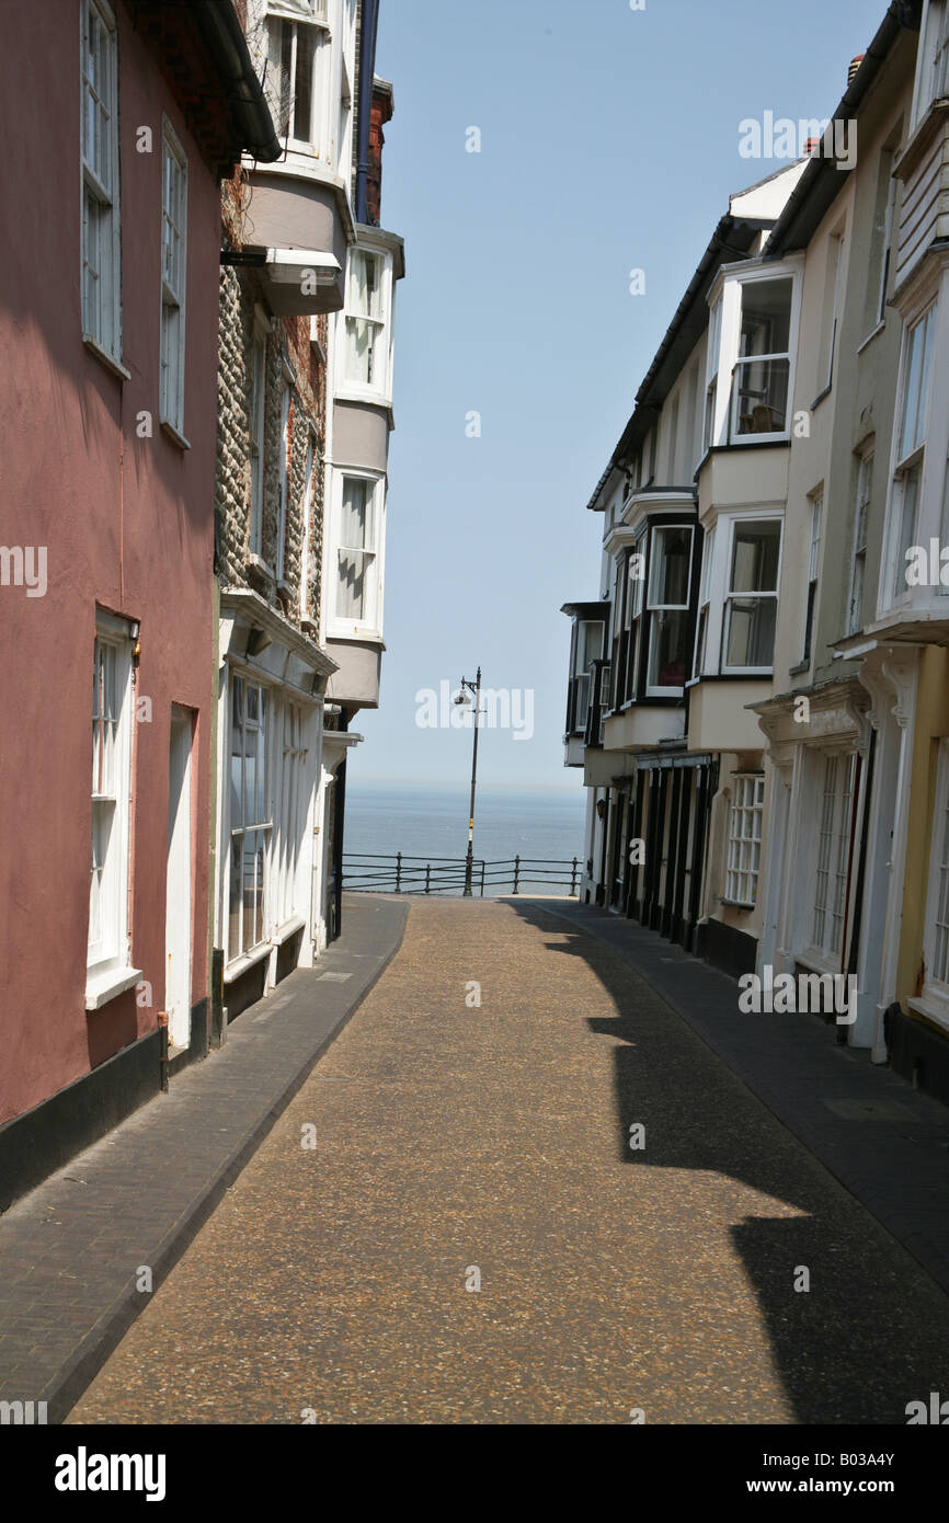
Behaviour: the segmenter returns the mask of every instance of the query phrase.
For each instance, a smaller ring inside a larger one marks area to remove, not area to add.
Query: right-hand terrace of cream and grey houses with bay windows
[[[733,198],[567,606],[588,897],[733,973],[855,975],[839,1034],[943,1098],[947,56],[949,6],[891,6],[832,117],[856,155],[830,129]]]

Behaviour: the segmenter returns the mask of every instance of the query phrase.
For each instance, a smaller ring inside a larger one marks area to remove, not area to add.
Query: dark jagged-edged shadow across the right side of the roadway
[[[576,1011],[614,1043],[617,1129],[606,1145],[634,1170],[714,1173],[798,1212],[769,1215],[765,1206],[727,1228],[797,1421],[905,1424],[906,1404],[946,1389],[949,1378],[949,1301],[940,1287],[631,963],[539,902],[506,903],[556,937],[551,953],[586,963],[612,999],[611,1017]],[[644,1129],[643,1147],[631,1145],[640,1141],[635,1125]],[[690,1270],[701,1256],[692,1249],[684,1218],[682,1276],[693,1273],[701,1295],[702,1270]],[[739,1323],[722,1325],[722,1381],[731,1389],[728,1345],[740,1349],[743,1336]]]

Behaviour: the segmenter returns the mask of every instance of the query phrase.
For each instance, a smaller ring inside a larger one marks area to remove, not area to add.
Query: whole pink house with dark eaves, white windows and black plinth
[[[0,1203],[212,1037],[221,177],[280,152],[230,0],[5,23]]]

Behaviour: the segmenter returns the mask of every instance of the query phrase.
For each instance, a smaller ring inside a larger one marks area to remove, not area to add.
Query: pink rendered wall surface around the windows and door
[[[0,544],[47,547],[47,592],[0,586],[0,1121],[155,1027],[165,999],[171,705],[192,748],[192,1002],[207,993],[219,186],[120,3],[120,381],[81,341],[79,5],[5,8],[0,53]],[[183,451],[158,426],[161,113],[187,154]],[[149,125],[154,151],[136,152]],[[136,437],[149,411],[154,437]],[[142,621],[131,956],[152,984],[85,1011],[96,605]]]

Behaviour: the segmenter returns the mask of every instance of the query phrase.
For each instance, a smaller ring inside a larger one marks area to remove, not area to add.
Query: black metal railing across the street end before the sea
[[[396,851],[378,856],[364,851],[343,853],[343,888],[356,894],[462,894],[465,891],[465,857],[422,857]],[[564,888],[559,899],[576,897],[580,880],[577,857],[504,857],[489,862],[475,857],[472,891],[484,899],[522,894],[524,885],[536,885],[544,892]]]

